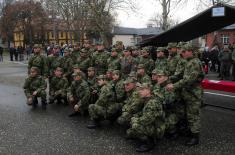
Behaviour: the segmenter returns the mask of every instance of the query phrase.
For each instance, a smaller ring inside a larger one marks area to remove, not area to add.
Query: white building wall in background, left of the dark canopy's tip
[[[113,45],[116,43],[116,41],[122,41],[123,45],[126,46],[134,46],[135,43],[135,37],[134,35],[114,35],[113,36]]]

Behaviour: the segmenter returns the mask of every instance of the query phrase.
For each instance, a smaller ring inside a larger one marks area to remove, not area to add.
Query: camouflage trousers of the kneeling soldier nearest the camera
[[[155,124],[143,125],[131,121],[131,128],[127,130],[128,137],[145,140],[146,137],[161,139],[165,133],[164,121],[157,121]]]

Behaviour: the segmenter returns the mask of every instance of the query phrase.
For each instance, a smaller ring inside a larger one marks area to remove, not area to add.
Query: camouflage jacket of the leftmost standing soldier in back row
[[[48,64],[47,59],[44,55],[34,54],[33,56],[31,56],[28,62],[28,74],[31,67],[38,67],[38,69],[40,70],[40,75],[48,76]]]

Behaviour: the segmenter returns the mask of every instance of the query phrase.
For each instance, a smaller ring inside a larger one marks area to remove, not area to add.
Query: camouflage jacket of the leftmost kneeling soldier
[[[23,88],[25,90],[26,96],[30,97],[34,91],[37,91],[38,93],[45,91],[47,88],[47,83],[42,76],[29,76],[25,79]]]

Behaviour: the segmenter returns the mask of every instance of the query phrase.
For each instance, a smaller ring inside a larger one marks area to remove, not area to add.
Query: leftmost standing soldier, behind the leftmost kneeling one
[[[41,76],[48,76],[48,66],[46,57],[41,55],[41,46],[38,44],[34,45],[33,48],[34,55],[29,58],[28,62],[28,74],[30,74],[30,69],[32,67],[37,67],[39,69],[39,74]]]

